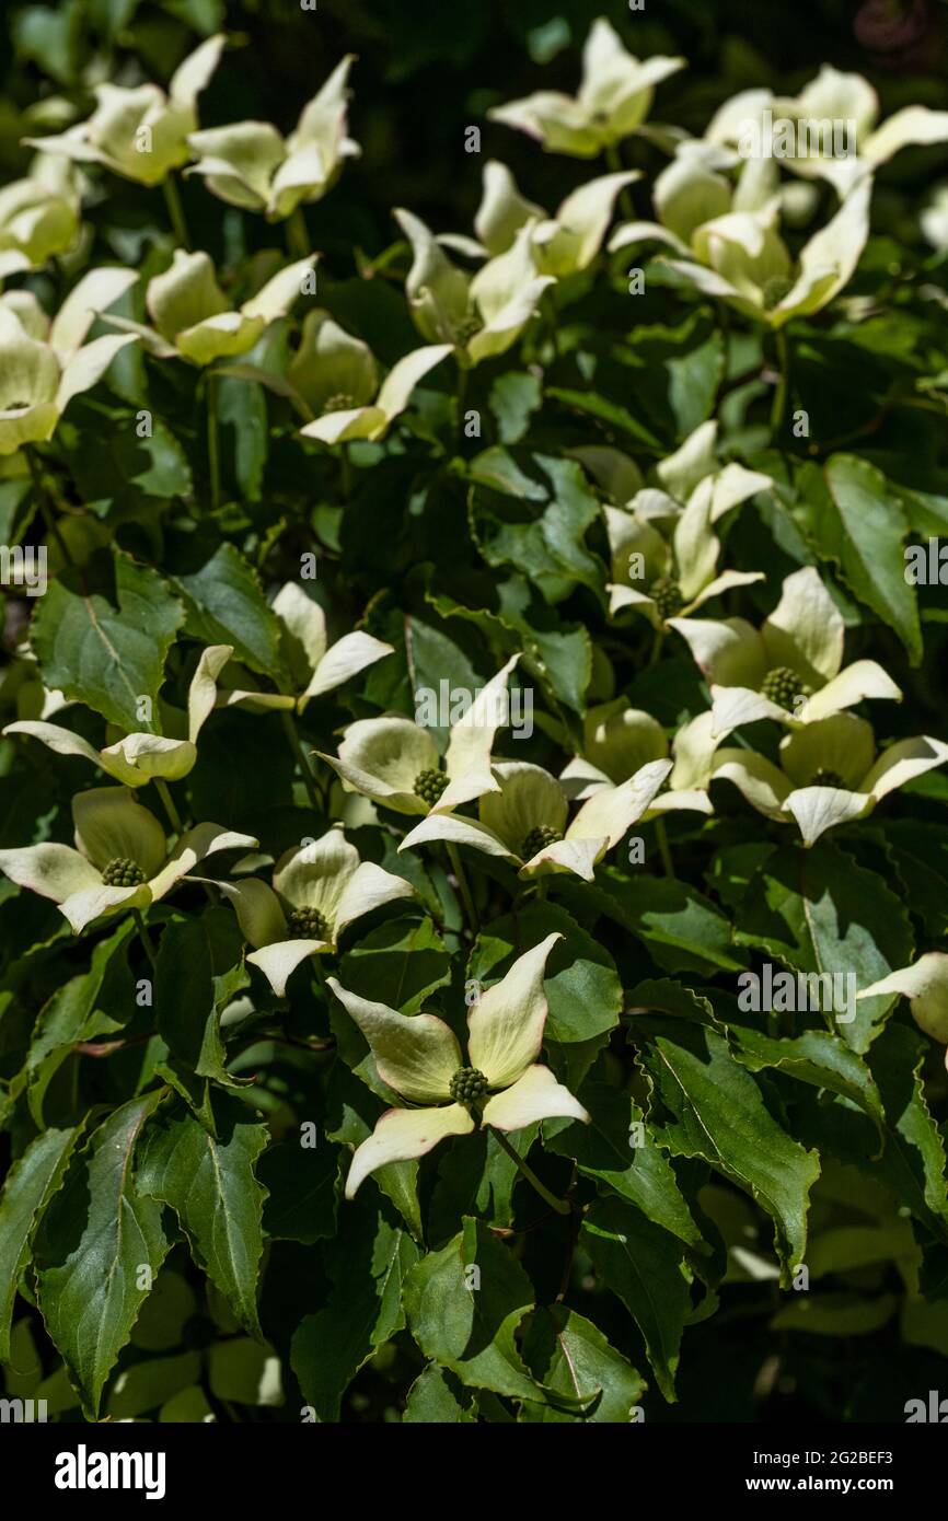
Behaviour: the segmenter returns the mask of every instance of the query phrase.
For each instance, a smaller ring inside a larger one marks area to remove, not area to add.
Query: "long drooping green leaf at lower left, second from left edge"
[[[161,1095],[131,1100],[93,1133],[37,1243],[40,1310],[90,1421],[170,1246],[161,1205],[134,1176],[135,1145]]]

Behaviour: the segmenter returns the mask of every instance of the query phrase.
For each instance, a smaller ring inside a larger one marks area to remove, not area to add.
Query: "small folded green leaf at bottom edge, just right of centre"
[[[641,1415],[645,1380],[609,1345],[598,1326],[566,1305],[537,1310],[523,1338],[523,1357],[548,1389],[583,1401],[581,1413],[526,1404],[530,1422],[628,1422]]]

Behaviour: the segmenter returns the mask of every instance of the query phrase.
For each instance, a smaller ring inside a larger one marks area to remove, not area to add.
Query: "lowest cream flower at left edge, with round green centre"
[[[195,824],[169,850],[155,815],[125,786],[76,792],[73,823],[78,849],[47,841],[0,850],[0,872],[52,897],[76,934],[102,914],[157,903],[205,856],[259,843],[221,824]]]

